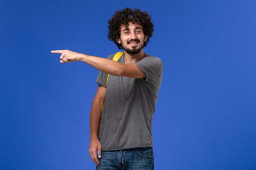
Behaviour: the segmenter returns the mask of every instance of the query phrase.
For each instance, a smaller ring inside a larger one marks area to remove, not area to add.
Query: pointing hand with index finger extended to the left
[[[79,61],[82,55],[81,53],[76,53],[70,50],[55,50],[55,51],[51,51],[51,53],[60,53],[61,63]]]

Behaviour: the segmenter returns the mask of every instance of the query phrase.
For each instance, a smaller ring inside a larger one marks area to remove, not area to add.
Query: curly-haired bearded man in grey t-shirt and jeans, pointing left
[[[124,49],[117,62],[68,50],[61,63],[83,61],[97,68],[99,84],[90,112],[90,157],[97,170],[153,170],[152,119],[162,61],[143,47],[154,27],[147,12],[117,10],[108,21],[108,38]],[[109,74],[109,75],[108,75]]]

